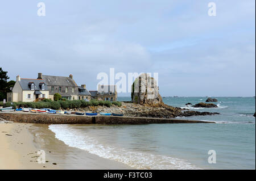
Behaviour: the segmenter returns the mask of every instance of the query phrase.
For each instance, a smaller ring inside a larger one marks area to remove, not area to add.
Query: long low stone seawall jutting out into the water
[[[0,112],[0,117],[16,123],[40,124],[150,124],[150,123],[214,123],[209,121],[150,117],[49,115],[46,113]]]

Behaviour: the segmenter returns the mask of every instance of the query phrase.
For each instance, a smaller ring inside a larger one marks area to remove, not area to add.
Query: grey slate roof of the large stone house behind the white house
[[[48,86],[77,86],[76,82],[70,77],[42,75],[42,78]]]

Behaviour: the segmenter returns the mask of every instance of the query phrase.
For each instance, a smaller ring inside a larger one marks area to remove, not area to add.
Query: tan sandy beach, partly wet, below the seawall
[[[134,169],[65,145],[46,124],[0,123],[0,142],[0,169]]]

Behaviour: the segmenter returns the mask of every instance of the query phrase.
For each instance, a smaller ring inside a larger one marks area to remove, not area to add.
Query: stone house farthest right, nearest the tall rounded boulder
[[[97,91],[89,91],[92,99],[117,100],[117,86],[99,85]]]

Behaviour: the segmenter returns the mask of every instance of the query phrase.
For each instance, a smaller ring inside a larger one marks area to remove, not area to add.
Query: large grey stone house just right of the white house
[[[38,79],[43,79],[49,91],[49,99],[53,100],[55,93],[59,93],[62,98],[67,100],[90,100],[90,92],[86,90],[85,85],[77,86],[73,79],[73,75],[69,77],[42,75],[38,73]]]

